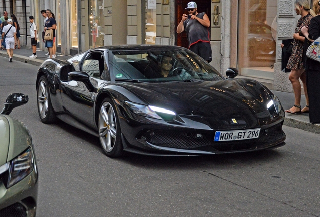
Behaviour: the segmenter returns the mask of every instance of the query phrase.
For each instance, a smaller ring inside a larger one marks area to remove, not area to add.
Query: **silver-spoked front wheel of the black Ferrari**
[[[102,101],[98,119],[99,140],[108,157],[121,157],[124,154],[119,118],[115,111],[115,105],[110,98]]]

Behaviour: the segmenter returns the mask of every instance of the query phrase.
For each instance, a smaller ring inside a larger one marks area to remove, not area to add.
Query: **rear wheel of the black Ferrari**
[[[51,98],[49,94],[48,80],[46,76],[41,76],[37,88],[37,105],[41,122],[49,124],[56,121],[56,115],[53,111]]]

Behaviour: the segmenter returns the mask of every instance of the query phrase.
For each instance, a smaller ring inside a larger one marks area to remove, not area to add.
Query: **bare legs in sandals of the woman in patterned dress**
[[[299,112],[307,112],[309,110],[308,107],[304,107],[303,110],[299,108],[301,103],[301,84],[299,81],[299,78],[302,81],[303,88],[304,88],[304,94],[307,105],[309,105],[309,98],[308,93],[306,89],[306,78],[305,78],[305,71],[304,69],[292,69],[289,75],[289,80],[291,81],[293,92],[294,92],[294,104],[297,106],[293,106],[289,110],[286,110],[286,112],[289,113],[299,113]]]

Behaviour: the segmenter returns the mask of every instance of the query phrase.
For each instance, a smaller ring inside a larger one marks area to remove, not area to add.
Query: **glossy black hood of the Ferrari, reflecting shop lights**
[[[270,90],[252,79],[127,83],[124,87],[146,104],[192,116],[259,113],[267,110],[271,100]]]

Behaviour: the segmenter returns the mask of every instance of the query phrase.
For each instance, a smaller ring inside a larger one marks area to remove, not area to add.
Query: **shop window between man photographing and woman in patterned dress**
[[[273,79],[277,2],[239,1],[237,56],[241,75]]]

